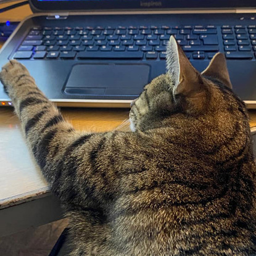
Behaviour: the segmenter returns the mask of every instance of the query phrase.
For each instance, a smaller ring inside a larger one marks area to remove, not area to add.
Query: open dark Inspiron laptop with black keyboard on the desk
[[[233,89],[256,109],[255,0],[30,0],[0,52],[24,64],[62,107],[129,107],[165,73],[174,35],[197,70],[226,56]],[[0,85],[0,105],[12,103]]]

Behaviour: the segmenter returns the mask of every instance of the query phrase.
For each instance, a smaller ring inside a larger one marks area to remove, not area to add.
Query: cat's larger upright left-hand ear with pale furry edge
[[[170,74],[174,96],[189,96],[202,89],[200,73],[189,62],[173,36],[167,46],[167,72]]]

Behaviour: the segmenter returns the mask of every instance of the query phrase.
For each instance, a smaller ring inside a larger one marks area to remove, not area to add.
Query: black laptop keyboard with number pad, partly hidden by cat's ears
[[[256,58],[256,25],[183,27],[33,27],[14,59],[165,59],[170,36],[189,59]]]

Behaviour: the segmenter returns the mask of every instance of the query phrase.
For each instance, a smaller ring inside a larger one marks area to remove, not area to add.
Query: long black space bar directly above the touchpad
[[[143,52],[140,51],[114,51],[114,52],[78,52],[78,59],[142,59]]]

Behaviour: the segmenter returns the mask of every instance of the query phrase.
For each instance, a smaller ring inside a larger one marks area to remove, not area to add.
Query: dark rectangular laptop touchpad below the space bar
[[[149,65],[78,64],[72,68],[64,93],[138,96],[149,82]]]

